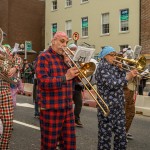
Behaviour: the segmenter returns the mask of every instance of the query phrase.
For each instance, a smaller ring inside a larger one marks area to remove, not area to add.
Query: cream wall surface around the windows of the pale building
[[[81,35],[81,18],[88,16],[89,36],[81,37],[78,43],[86,42],[95,45],[96,52],[102,46],[111,45],[119,51],[119,45],[139,44],[139,0],[89,0],[86,4],[73,1],[71,7],[65,7],[65,0],[58,1],[58,10],[51,11],[51,1],[46,0],[45,47],[51,40],[51,24],[58,23],[58,31],[65,31],[65,21],[72,20],[73,32]],[[119,33],[119,11],[129,8],[129,32]],[[110,34],[101,35],[101,14],[110,13]],[[71,41],[72,42],[72,41]]]

